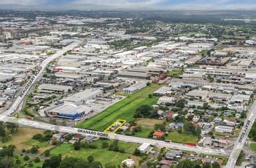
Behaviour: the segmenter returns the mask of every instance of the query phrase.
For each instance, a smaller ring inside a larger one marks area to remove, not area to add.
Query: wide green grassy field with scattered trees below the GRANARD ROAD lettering
[[[109,144],[112,143],[110,140],[106,140]],[[125,149],[126,153],[119,153],[116,151],[108,151],[108,149],[101,149],[102,140],[98,140],[93,144],[97,145],[97,149],[80,149],[80,151],[74,151],[74,147],[71,144],[63,143],[55,149],[51,150],[51,155],[61,154],[63,157],[78,157],[81,159],[87,159],[88,156],[92,155],[96,161],[100,161],[102,165],[106,163],[113,163],[114,165],[120,165],[124,159],[128,157],[134,158],[135,161],[139,161],[140,157],[135,157],[131,153],[139,147],[135,143],[122,143],[118,142],[118,147]],[[137,162],[138,164],[138,162]]]

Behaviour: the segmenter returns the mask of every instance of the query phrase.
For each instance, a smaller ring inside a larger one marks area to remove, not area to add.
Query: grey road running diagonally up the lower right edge
[[[255,116],[256,116],[256,101],[254,101],[253,105],[251,106],[251,110],[247,115],[247,119],[245,119],[245,124],[243,125],[243,128],[239,133],[239,137],[235,142],[235,145],[233,147],[233,150],[231,151],[231,155],[229,156],[229,160],[227,161],[227,164],[225,167],[227,168],[235,167],[235,163],[237,161],[237,158],[239,157],[239,153],[243,149],[243,146],[245,145],[245,141],[255,121]]]

